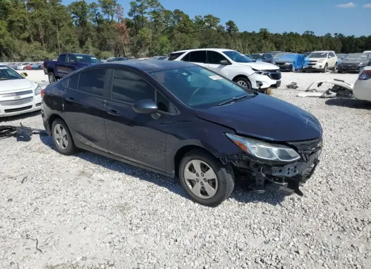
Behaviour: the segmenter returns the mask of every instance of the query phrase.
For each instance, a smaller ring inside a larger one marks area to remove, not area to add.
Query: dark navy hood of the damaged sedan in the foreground
[[[259,93],[231,105],[195,109],[197,117],[233,128],[237,134],[276,142],[319,138],[322,127],[310,113]]]

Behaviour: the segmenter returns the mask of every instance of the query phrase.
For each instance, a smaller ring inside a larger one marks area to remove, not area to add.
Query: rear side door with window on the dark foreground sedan
[[[64,113],[72,136],[86,146],[108,152],[104,104],[109,69],[81,72],[69,79],[63,96]]]

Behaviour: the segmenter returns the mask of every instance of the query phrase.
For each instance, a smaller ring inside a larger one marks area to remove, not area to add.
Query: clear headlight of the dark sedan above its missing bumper
[[[284,145],[268,144],[259,140],[232,135],[231,133],[226,133],[226,136],[240,149],[259,159],[287,162],[300,159],[300,155],[294,149]]]

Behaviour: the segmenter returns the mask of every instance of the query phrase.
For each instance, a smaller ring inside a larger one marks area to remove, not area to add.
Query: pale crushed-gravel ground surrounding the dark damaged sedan
[[[287,73],[283,83],[306,89],[324,77],[335,76]],[[49,137],[0,140],[0,267],[371,268],[371,104],[296,93],[274,90],[324,129],[303,197],[237,185],[206,208],[175,180],[89,152],[60,155]],[[39,113],[0,118],[19,122],[43,127]]]

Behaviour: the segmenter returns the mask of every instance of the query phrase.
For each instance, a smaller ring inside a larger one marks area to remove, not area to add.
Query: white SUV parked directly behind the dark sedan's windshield
[[[168,60],[188,61],[233,80],[242,87],[263,92],[281,86],[281,71],[274,64],[253,62],[229,49],[194,49],[171,53]]]

